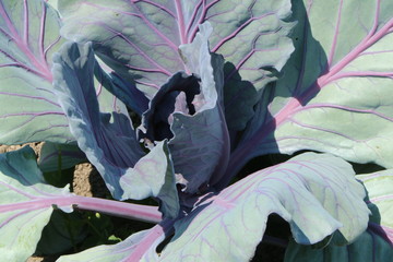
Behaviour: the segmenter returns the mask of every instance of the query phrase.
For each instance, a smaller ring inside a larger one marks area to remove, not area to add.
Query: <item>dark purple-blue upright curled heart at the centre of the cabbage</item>
[[[223,109],[223,59],[210,53],[209,22],[191,44],[180,46],[193,75],[177,73],[153,97],[143,115],[151,140],[170,138],[178,183],[188,193],[218,181],[229,157],[229,135]]]

